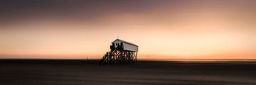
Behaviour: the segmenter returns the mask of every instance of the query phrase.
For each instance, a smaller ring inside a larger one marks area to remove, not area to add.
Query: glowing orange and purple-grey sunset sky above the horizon
[[[256,59],[253,0],[1,0],[0,58]]]

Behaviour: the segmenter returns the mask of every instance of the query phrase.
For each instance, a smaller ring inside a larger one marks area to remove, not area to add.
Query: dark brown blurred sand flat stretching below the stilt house
[[[255,62],[0,60],[0,85],[256,85]]]

